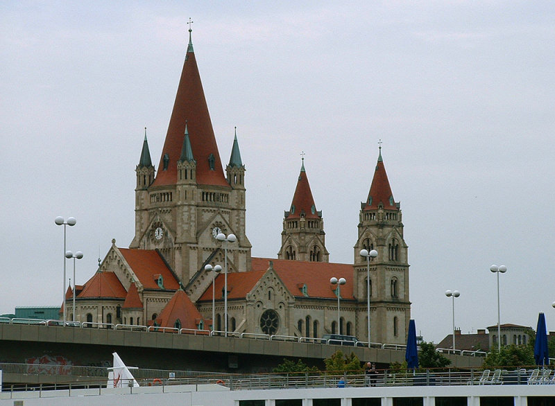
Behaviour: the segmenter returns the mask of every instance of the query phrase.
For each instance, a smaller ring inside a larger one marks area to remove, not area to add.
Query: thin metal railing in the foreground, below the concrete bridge
[[[4,373],[26,373],[34,364],[0,363]],[[47,366],[41,366],[47,367]],[[63,389],[96,388],[99,394],[107,387],[108,369],[103,367],[67,367],[71,372],[67,382],[56,384],[13,384],[4,385],[3,391],[48,391]],[[160,369],[137,369],[133,375],[141,387],[172,385],[221,385],[231,390],[329,388],[329,387],[410,387],[410,386],[460,386],[460,385],[529,385],[534,367],[499,370],[499,379],[484,381],[483,369],[423,369],[418,371],[387,369],[377,370],[375,376],[366,376],[363,371],[310,371],[298,373],[214,373],[198,371],[171,371]],[[537,367],[536,367],[537,369]],[[31,373],[39,373],[37,370]],[[89,376],[98,379],[76,382],[69,378]],[[545,382],[548,383],[548,382]],[[140,390],[139,388],[137,388]],[[133,389],[135,390],[135,389]],[[163,391],[163,390],[162,390]]]

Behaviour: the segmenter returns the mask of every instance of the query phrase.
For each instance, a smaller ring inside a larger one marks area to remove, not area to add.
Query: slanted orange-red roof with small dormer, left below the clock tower
[[[166,263],[153,249],[119,248],[121,255],[146,289],[160,289],[154,276],[162,275],[164,289],[178,290],[179,283]]]

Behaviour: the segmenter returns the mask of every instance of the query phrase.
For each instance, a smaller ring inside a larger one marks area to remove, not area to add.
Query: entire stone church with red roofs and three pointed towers
[[[312,338],[339,333],[368,341],[369,295],[370,341],[406,342],[407,244],[381,146],[359,223],[352,224],[353,263],[329,262],[304,158],[277,258],[253,258],[237,130],[224,172],[190,29],[159,164],[145,129],[135,175],[135,237],[128,248],[112,240],[96,273],[76,286],[76,321]],[[367,263],[361,249],[377,257]],[[332,278],[345,284],[332,285]],[[62,311],[71,317],[71,300]]]

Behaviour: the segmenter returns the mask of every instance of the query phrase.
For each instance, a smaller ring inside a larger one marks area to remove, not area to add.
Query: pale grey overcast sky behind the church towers
[[[276,258],[305,168],[330,262],[352,263],[382,140],[426,341],[501,322],[555,330],[552,1],[2,1],[0,314],[60,306],[63,227],[93,276],[133,239],[187,21],[223,164],[234,127],[253,256]],[[67,276],[73,264],[67,263]]]

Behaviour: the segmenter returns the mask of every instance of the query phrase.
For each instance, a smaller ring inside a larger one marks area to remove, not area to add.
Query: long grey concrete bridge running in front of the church
[[[284,358],[301,359],[323,369],[323,360],[338,349],[355,353],[361,361],[386,368],[403,362],[404,351],[342,347],[278,339],[219,337],[155,331],[0,323],[0,362],[18,364],[108,367],[116,351],[126,364],[145,369],[175,369],[235,373],[268,372]],[[481,357],[446,354],[451,367],[479,367]],[[4,377],[7,382],[8,377]],[[62,377],[63,378],[63,377]],[[55,382],[60,376],[42,376],[38,382]],[[70,377],[66,377],[70,378]],[[10,377],[19,382],[35,378]],[[67,379],[65,379],[67,380]]]

